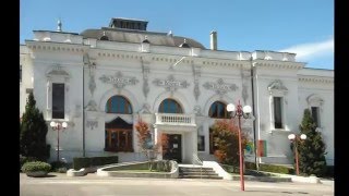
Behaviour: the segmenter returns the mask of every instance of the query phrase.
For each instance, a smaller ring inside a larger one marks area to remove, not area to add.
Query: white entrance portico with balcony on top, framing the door
[[[181,148],[181,160],[183,163],[192,163],[193,155],[197,155],[197,127],[195,124],[195,114],[179,113],[155,113],[156,122],[154,124],[155,144],[160,143],[161,134],[178,134],[181,144],[171,142],[171,148]],[[163,147],[161,147],[163,151]],[[163,159],[159,154],[158,159]]]

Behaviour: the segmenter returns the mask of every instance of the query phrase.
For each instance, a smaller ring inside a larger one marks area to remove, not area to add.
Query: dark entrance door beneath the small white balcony
[[[180,134],[166,134],[167,144],[163,145],[163,159],[182,162],[182,136]]]

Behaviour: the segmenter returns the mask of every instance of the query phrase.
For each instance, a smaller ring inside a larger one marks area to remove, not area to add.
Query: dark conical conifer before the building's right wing
[[[304,110],[299,128],[300,134],[306,135],[305,140],[297,140],[300,173],[322,176],[326,172],[326,145],[322,134],[316,130],[316,124],[309,109]]]

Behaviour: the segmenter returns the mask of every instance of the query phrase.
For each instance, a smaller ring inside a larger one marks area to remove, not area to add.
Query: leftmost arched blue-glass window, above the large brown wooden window
[[[128,99],[122,96],[112,96],[106,103],[107,113],[132,113],[132,108]]]

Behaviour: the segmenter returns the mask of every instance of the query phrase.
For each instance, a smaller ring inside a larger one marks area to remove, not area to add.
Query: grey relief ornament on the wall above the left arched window
[[[122,89],[125,86],[135,85],[139,79],[135,77],[125,77],[119,71],[115,75],[103,75],[99,79],[107,84],[112,84],[116,88]]]

